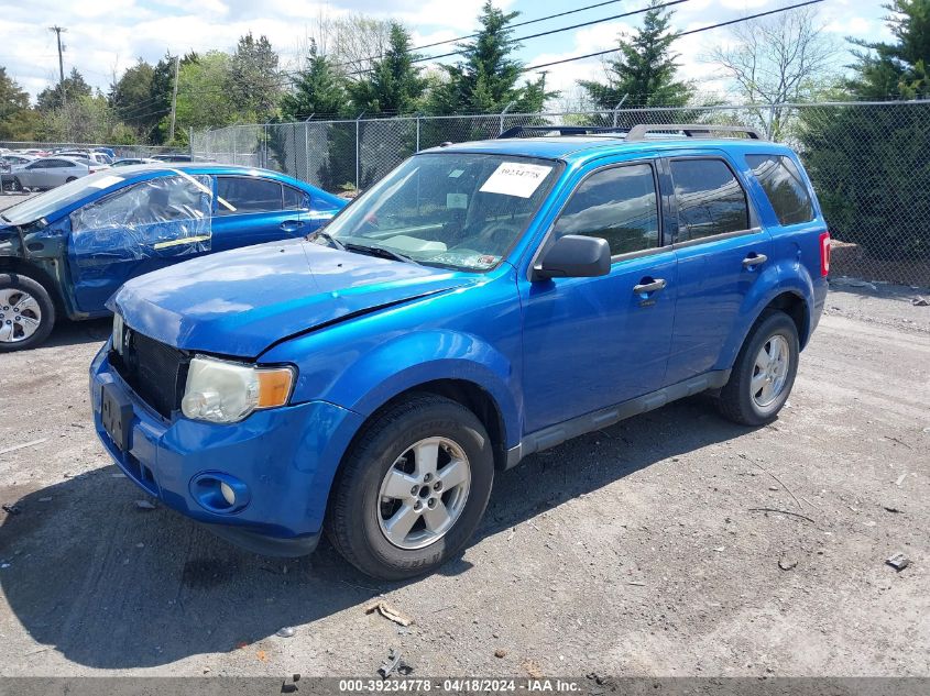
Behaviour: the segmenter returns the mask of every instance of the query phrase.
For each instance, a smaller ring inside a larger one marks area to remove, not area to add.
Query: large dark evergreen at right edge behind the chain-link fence
[[[854,42],[854,100],[927,95],[930,0],[887,9],[897,42]],[[805,162],[834,237],[873,258],[930,258],[930,107],[851,103],[800,114]]]

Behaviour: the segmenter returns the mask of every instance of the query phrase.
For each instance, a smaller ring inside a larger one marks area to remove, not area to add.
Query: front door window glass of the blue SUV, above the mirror
[[[653,167],[634,164],[595,172],[575,190],[554,228],[566,234],[600,236],[611,255],[659,245],[659,214]]]

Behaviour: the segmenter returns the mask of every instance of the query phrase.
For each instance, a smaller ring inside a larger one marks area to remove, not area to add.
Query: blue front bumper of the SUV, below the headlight
[[[332,478],[361,416],[309,401],[256,411],[231,424],[179,416],[167,421],[111,367],[109,349],[108,343],[90,366],[90,401],[97,437],[127,476],[165,506],[250,551],[293,556],[316,548]],[[132,405],[124,452],[103,429],[105,384]],[[232,512],[207,509],[194,484],[205,474],[241,482],[249,494],[245,506]]]

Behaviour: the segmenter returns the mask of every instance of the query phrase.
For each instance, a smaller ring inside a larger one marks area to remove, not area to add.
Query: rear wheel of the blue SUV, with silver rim
[[[799,354],[798,329],[791,318],[781,311],[764,313],[720,391],[720,412],[741,426],[775,420],[795,385]]]

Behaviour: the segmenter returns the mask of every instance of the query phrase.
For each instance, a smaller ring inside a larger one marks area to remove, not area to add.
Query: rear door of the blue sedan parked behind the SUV
[[[288,189],[285,208],[285,191]],[[254,176],[217,176],[214,251],[225,251],[306,234],[303,199],[292,187]]]

